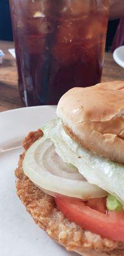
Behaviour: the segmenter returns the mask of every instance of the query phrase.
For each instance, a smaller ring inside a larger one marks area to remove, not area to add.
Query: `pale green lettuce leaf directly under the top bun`
[[[90,184],[104,189],[124,205],[124,166],[122,164],[114,163],[82,148],[66,134],[59,118],[45,125],[43,132],[53,141],[56,152],[65,163],[73,164]]]

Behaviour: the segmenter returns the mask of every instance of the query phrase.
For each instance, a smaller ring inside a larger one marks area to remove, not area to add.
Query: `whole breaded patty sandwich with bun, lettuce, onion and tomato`
[[[122,256],[124,82],[72,88],[56,113],[56,120],[24,139],[17,195],[66,250]]]

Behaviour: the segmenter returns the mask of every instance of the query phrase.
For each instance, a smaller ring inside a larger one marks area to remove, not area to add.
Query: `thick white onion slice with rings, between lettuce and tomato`
[[[75,198],[98,198],[106,192],[89,184],[72,164],[64,163],[53,142],[43,136],[27,150],[23,161],[24,173],[38,187]]]

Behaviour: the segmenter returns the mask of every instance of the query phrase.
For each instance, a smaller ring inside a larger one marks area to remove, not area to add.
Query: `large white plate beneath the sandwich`
[[[74,256],[52,241],[33,221],[16,195],[14,170],[21,143],[29,131],[35,131],[56,118],[55,106],[15,109],[0,113],[0,255],[2,256]]]

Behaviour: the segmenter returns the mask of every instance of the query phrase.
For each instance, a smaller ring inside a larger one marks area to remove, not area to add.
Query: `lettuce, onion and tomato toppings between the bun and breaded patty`
[[[124,241],[123,165],[82,148],[66,134],[59,118],[42,131],[43,137],[26,152],[24,173],[56,198],[69,220],[103,237]]]

